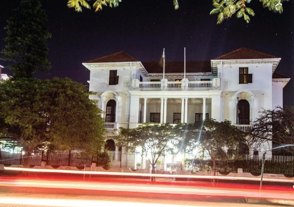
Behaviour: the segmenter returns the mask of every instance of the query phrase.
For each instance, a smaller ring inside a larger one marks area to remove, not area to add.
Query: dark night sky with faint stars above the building
[[[294,105],[294,0],[285,2],[284,12],[263,9],[258,0],[249,5],[255,16],[247,24],[235,16],[216,25],[211,0],[123,0],[117,8],[104,7],[82,13],[66,6],[67,0],[41,0],[48,15],[49,60],[53,76],[70,77],[87,84],[90,72],[82,62],[113,52],[125,51],[140,61],[211,60],[239,47],[248,47],[281,57],[275,72],[291,81],[284,88],[284,106]],[[6,20],[17,7],[17,0],[1,0],[0,49],[4,47]],[[0,65],[8,62],[0,60]],[[4,69],[9,73],[8,69]],[[45,77],[36,74],[37,77]]]

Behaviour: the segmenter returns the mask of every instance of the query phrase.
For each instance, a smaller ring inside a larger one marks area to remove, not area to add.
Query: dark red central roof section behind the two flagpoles
[[[142,62],[148,73],[163,73],[163,66],[159,62]],[[166,73],[184,73],[183,61],[170,61],[165,65]],[[211,72],[211,62],[207,61],[186,61],[186,73],[209,73]]]

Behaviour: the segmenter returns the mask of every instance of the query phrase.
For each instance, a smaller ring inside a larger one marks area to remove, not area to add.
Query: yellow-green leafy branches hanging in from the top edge
[[[67,6],[69,8],[75,8],[76,11],[81,12],[82,6],[91,9],[91,6],[87,3],[90,0],[69,0]],[[282,13],[284,1],[289,0],[259,0],[264,8],[268,8],[270,11]],[[95,11],[99,11],[103,6],[116,7],[121,0],[94,0],[93,7]],[[210,14],[218,14],[217,24],[222,23],[225,19],[232,17],[236,14],[237,18],[243,17],[244,20],[249,23],[250,16],[254,16],[255,13],[252,9],[247,7],[251,0],[212,0],[214,9]],[[178,0],[173,0],[173,6],[175,9],[179,8]]]

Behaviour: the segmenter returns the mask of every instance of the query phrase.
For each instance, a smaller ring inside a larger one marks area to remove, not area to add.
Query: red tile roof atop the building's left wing
[[[97,58],[95,60],[90,60],[86,63],[100,63],[100,62],[138,62],[138,60],[126,52],[116,52],[111,55],[106,55],[104,57]]]

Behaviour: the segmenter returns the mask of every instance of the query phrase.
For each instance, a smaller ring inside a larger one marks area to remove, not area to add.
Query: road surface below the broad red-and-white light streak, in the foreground
[[[93,191],[80,189],[48,189],[27,187],[0,187],[1,206],[268,206],[245,203],[244,198],[157,194],[123,191]],[[15,204],[13,204],[15,202]],[[23,202],[28,202],[21,205]],[[58,204],[59,203],[59,204]],[[64,205],[65,204],[65,205]],[[102,204],[102,205],[101,205]],[[274,205],[273,205],[274,206]]]

